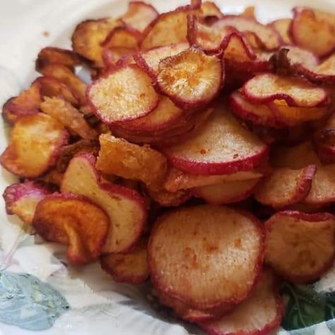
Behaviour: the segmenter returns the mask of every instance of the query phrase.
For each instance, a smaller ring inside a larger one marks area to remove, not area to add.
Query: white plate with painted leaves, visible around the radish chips
[[[151,0],[159,11],[186,4]],[[290,16],[293,6],[317,6],[335,12],[331,0],[217,0],[224,13],[256,6],[262,22]],[[70,47],[76,23],[118,16],[126,0],[11,0],[0,5],[0,105],[29,86],[37,76],[33,62],[47,45]],[[2,123],[0,151],[6,147]],[[0,192],[15,178],[1,170]],[[112,283],[98,264],[65,265],[64,248],[45,243],[6,216],[0,201],[0,335],[180,335],[201,334],[155,310],[146,286]],[[333,293],[334,292],[334,293]],[[287,302],[278,334],[335,334],[335,266],[312,286],[283,286]],[[38,331],[38,332],[37,332]]]

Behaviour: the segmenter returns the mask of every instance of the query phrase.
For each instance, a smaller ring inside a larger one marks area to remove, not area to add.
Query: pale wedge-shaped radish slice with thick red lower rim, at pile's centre
[[[189,140],[164,148],[174,167],[192,174],[228,175],[253,170],[264,162],[266,145],[225,108],[218,105]]]

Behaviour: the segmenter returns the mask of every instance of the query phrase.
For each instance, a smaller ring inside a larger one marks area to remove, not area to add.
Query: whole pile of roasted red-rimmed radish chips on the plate
[[[7,213],[208,334],[271,333],[334,261],[334,31],[201,0],[79,23],[3,106]]]

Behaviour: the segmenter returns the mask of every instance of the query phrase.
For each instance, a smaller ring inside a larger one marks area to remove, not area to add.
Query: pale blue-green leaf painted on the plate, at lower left
[[[0,273],[0,322],[28,330],[52,327],[69,303],[52,286],[30,274]]]

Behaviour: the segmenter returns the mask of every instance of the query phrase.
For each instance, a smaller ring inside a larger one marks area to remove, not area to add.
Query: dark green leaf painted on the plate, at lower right
[[[312,286],[283,283],[286,301],[282,327],[286,330],[302,329],[335,317],[335,295],[319,294]]]

